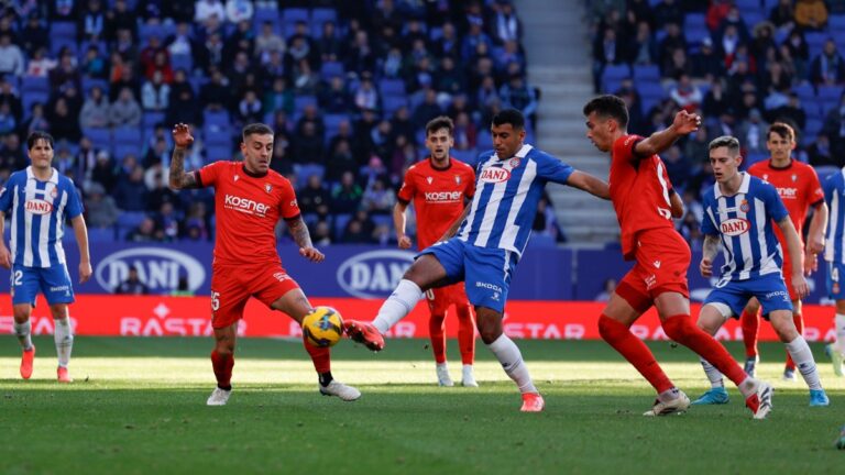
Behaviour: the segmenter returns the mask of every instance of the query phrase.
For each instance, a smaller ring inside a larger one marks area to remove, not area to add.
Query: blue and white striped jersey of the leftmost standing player
[[[13,173],[0,191],[0,211],[11,211],[12,263],[51,267],[65,262],[65,217],[81,214],[83,205],[70,178],[54,168],[50,180],[41,181],[26,167]]]

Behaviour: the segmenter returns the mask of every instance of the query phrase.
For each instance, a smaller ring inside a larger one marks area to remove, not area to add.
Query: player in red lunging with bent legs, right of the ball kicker
[[[727,375],[739,387],[755,418],[766,417],[771,387],[746,375],[724,346],[690,318],[690,248],[671,220],[682,206],[657,154],[698,130],[701,118],[678,112],[668,129],[644,139],[628,134],[627,107],[615,96],[591,100],[583,113],[588,139],[611,154],[608,183],[622,229],[622,252],[625,259],[636,261],[599,319],[599,332],[655,387],[657,400],[645,416],[681,412],[690,406],[690,399],[663,373],[648,346],[630,332],[630,325],[654,305],[667,336]]]

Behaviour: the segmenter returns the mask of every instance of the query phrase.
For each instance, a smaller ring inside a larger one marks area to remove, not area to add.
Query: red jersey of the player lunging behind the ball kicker
[[[634,146],[639,135],[623,135],[611,151],[611,201],[622,230],[622,254],[634,258],[636,234],[643,230],[668,228],[672,223],[669,190],[672,188],[663,162],[657,155],[639,158]]]

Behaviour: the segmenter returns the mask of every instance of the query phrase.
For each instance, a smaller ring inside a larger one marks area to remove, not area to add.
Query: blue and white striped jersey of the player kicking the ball
[[[475,196],[458,238],[522,256],[542,189],[548,181],[566,184],[572,172],[571,166],[527,144],[507,159],[500,159],[493,151],[482,153],[475,165]]]

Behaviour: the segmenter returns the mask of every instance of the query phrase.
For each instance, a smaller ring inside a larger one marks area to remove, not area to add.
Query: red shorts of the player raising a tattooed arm
[[[270,307],[279,297],[299,288],[282,264],[211,266],[211,327],[226,328],[243,318],[250,297]]]

